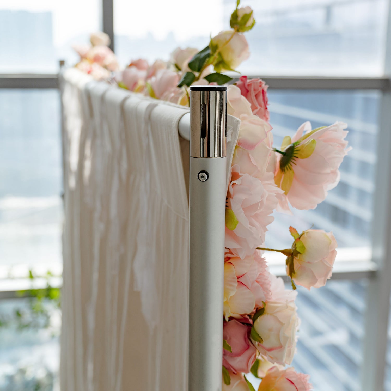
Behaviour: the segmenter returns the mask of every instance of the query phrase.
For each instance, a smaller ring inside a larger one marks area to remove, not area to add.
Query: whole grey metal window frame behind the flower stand
[[[391,0],[388,1],[386,55],[382,77],[283,77],[278,75],[251,75],[260,77],[272,89],[284,90],[378,90],[381,92],[377,166],[372,224],[372,257],[358,262],[339,262],[332,278],[351,280],[368,278],[365,338],[361,371],[362,390],[384,389],[387,351],[389,298],[391,293]],[[101,0],[102,30],[111,38],[115,48],[113,0]],[[60,61],[60,68],[63,61]],[[0,74],[0,88],[59,88],[57,74]],[[283,265],[271,265],[271,271],[286,278]],[[0,273],[1,274],[1,273]],[[16,280],[15,282],[17,282]],[[61,285],[61,279],[57,281]],[[20,285],[20,286],[19,286]],[[16,283],[13,290],[0,287],[0,300],[18,297],[17,291],[26,289],[26,281]]]

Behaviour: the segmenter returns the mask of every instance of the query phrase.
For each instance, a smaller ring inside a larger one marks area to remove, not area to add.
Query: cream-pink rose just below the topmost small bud
[[[228,66],[228,68],[231,68],[227,69],[227,67],[224,67],[224,64],[222,64],[216,72],[235,69],[250,56],[248,42],[244,35],[236,33],[232,38],[231,36],[232,30],[228,30],[222,31],[212,38],[212,42],[221,48],[220,55],[224,63]],[[231,40],[228,42],[230,38]]]

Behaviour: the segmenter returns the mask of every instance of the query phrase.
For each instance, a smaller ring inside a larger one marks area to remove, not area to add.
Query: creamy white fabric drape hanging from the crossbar
[[[75,69],[61,96],[61,389],[186,390],[188,109]],[[230,167],[239,121],[227,129]]]

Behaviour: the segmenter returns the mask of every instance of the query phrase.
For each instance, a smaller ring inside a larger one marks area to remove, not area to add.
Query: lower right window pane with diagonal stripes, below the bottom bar
[[[298,287],[301,324],[292,366],[310,375],[316,391],[361,390],[367,283],[329,281],[310,292]],[[260,380],[252,377],[251,382],[257,385]]]

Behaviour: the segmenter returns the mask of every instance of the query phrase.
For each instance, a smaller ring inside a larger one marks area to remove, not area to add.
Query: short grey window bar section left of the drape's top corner
[[[57,74],[0,74],[0,88],[58,88]]]

